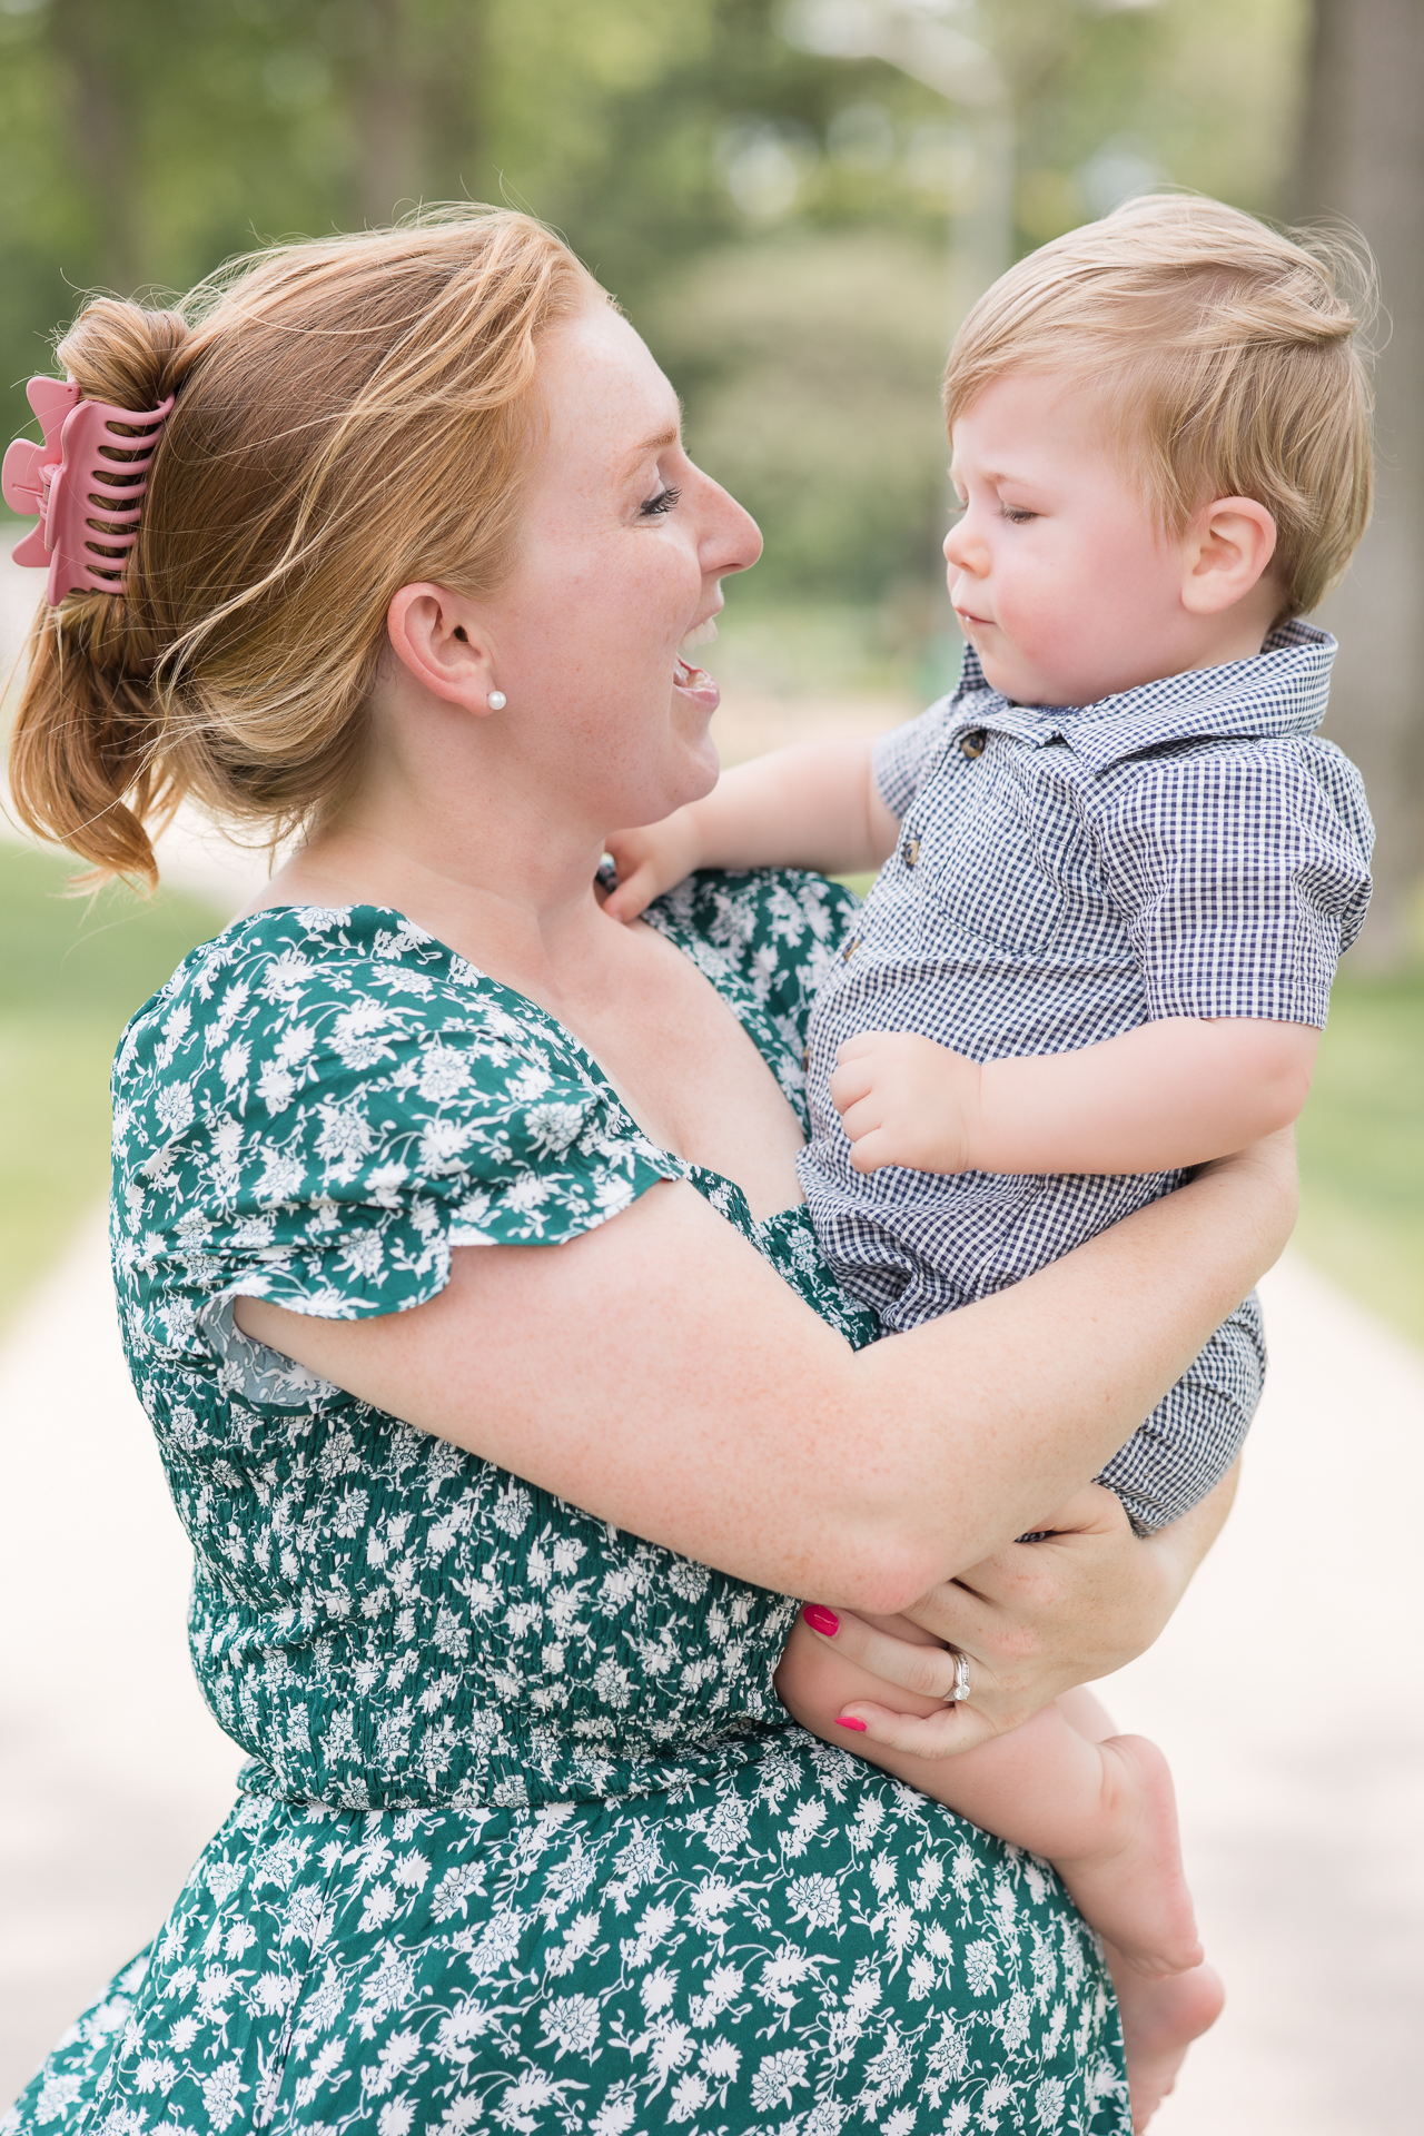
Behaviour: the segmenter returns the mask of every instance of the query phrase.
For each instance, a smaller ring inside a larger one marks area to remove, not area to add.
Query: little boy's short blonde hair
[[[1091,380],[1164,530],[1183,534],[1211,498],[1266,506],[1285,622],[1330,592],[1368,525],[1356,335],[1371,293],[1362,246],[1149,194],[1055,237],[980,297],[950,350],[944,412],[952,427],[1006,372]]]

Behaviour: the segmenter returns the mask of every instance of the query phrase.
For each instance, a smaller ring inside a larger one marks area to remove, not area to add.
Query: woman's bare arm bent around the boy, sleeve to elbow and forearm
[[[239,1301],[363,1401],[784,1593],[892,1613],[1042,1523],[1289,1235],[1289,1149],[1211,1166],[1012,1290],[852,1354],[690,1185],[453,1256],[378,1320]]]

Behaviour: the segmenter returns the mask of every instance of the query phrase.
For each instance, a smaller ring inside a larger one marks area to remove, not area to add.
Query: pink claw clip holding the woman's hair
[[[15,562],[41,570],[49,564],[51,609],[66,594],[117,594],[173,395],[147,414],[79,399],[79,387],[62,378],[32,378],[26,395],[45,442],[15,438],[0,491],[11,511],[38,513],[41,523],[15,549]]]

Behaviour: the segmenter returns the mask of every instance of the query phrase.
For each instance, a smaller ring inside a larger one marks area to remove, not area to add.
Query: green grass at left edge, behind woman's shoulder
[[[0,846],[0,1322],[109,1185],[117,1036],[222,918],[171,891],[64,897],[70,863]]]

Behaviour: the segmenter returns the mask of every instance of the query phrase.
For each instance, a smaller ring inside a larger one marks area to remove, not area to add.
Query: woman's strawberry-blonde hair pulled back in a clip
[[[154,882],[186,795],[269,837],[329,803],[397,587],[508,572],[540,335],[602,301],[540,222],[461,205],[271,246],[175,312],[88,303],[58,350],[81,391],[175,406],[122,592],[36,617],[19,820]]]

